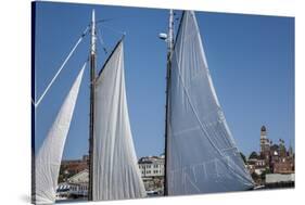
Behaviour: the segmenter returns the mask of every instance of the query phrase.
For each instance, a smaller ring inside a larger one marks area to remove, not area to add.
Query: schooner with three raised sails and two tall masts
[[[35,12],[35,11],[34,11]],[[82,65],[38,153],[34,156],[33,202],[55,202],[60,165],[82,75],[90,62],[90,201],[144,197],[130,129],[124,36],[97,73],[96,14],[39,105],[82,38],[90,34],[90,54]],[[253,188],[214,89],[202,38],[192,11],[185,11],[174,40],[174,13],[166,35],[165,195],[240,191]],[[97,74],[96,74],[97,73]],[[34,117],[34,116],[33,116]],[[35,134],[35,133],[34,133]]]

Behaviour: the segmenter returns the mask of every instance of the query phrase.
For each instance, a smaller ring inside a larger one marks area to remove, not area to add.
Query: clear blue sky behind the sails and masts
[[[36,92],[41,95],[86,28],[96,9],[109,51],[126,31],[125,74],[137,156],[164,150],[166,31],[168,11],[67,3],[37,3]],[[177,11],[177,17],[181,12]],[[239,149],[259,149],[266,125],[274,142],[294,148],[294,18],[196,12],[207,63],[225,116]],[[176,21],[178,25],[178,21]],[[178,26],[176,26],[177,28]],[[73,80],[89,52],[89,36],[78,47],[36,110],[36,150],[40,148]],[[105,54],[98,44],[98,67]],[[88,153],[89,69],[84,75],[64,158]]]

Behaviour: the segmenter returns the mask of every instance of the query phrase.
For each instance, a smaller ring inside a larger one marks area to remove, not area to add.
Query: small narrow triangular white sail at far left
[[[66,136],[77,100],[85,66],[69,90],[46,140],[35,158],[35,203],[55,202],[58,178]]]

